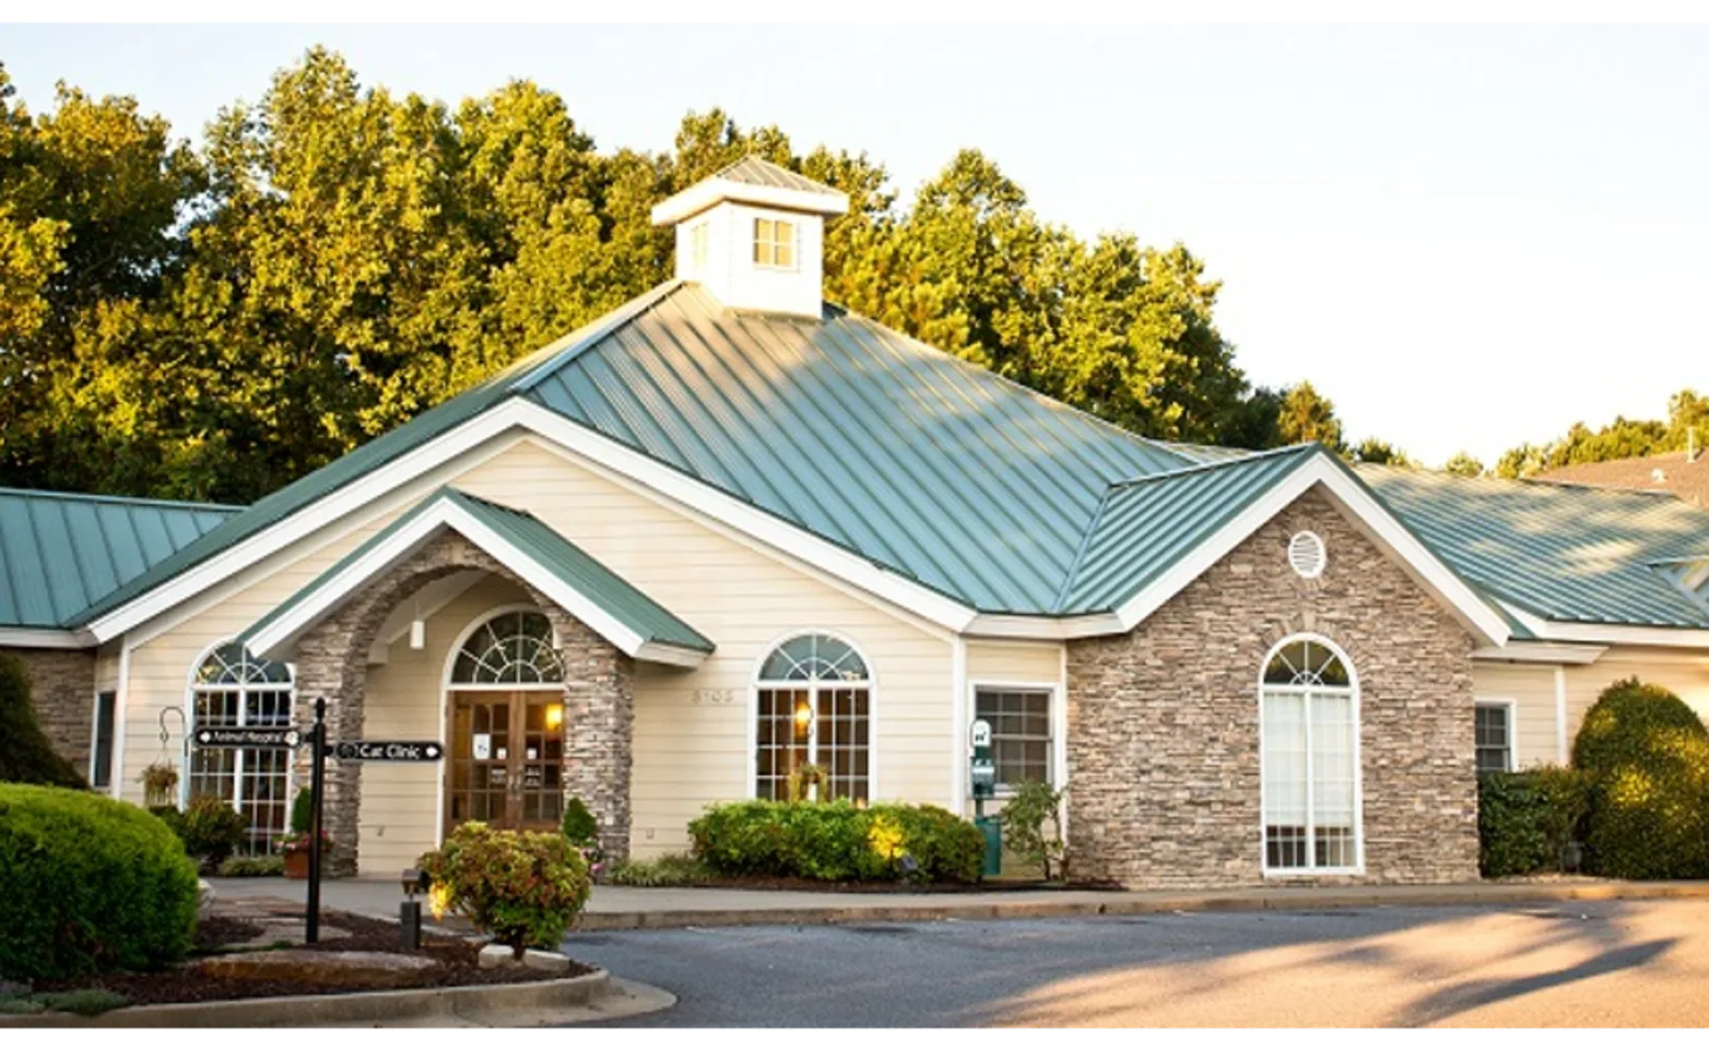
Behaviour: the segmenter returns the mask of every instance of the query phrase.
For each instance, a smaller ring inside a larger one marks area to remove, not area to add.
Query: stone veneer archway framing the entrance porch
[[[467,569],[516,583],[552,620],[564,661],[564,791],[566,796],[579,794],[598,818],[605,854],[625,858],[634,765],[634,661],[461,535],[448,531],[429,542],[297,641],[297,724],[313,724],[309,704],[325,695],[328,745],[362,738],[367,649],[381,624],[427,583]],[[297,750],[296,774],[297,782],[309,782],[306,747]],[[361,791],[361,762],[326,760],[325,820],[333,837],[328,870],[335,875],[355,873]]]

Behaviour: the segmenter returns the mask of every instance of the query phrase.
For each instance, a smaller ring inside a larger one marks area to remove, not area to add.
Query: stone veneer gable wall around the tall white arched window
[[[1289,538],[1307,528],[1328,548],[1318,579],[1287,564]],[[1477,880],[1471,637],[1318,489],[1130,634],[1070,642],[1075,876],[1263,882],[1258,673],[1295,632],[1340,644],[1359,677],[1359,880]]]

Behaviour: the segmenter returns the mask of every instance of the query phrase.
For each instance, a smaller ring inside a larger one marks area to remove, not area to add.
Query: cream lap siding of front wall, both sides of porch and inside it
[[[145,627],[159,632],[132,651],[125,796],[140,800],[137,776],[162,750],[161,711],[185,709],[191,668],[210,646],[250,627],[441,483],[533,513],[718,646],[694,671],[637,668],[632,782],[637,854],[685,847],[687,822],[708,803],[749,796],[754,671],[771,644],[800,630],[843,634],[872,665],[873,796],[938,805],[948,796],[947,636],[808,569],[761,554],[531,439],[496,441],[472,451],[243,572],[188,613],[176,610],[179,622]],[[443,646],[487,608],[513,598],[477,586],[431,617],[426,654],[408,651],[407,637],[402,648],[393,644],[388,661],[369,668],[366,731],[441,738],[443,730],[432,730],[441,716]],[[171,760],[185,762],[181,740],[173,740],[169,753]],[[439,786],[436,772],[379,769],[364,769],[361,866],[364,873],[391,875],[432,844]]]

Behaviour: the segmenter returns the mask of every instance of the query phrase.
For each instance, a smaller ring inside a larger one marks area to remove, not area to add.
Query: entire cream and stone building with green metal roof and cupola
[[[306,755],[203,726],[443,740],[330,762],[335,868],[465,818],[614,854],[708,803],[971,812],[1068,788],[1080,876],[1477,876],[1480,767],[1559,762],[1632,673],[1709,709],[1709,513],[1160,444],[820,301],[843,195],[749,159],[663,202],[677,278],[255,506],[0,497],[0,644],[58,743],[250,815]]]

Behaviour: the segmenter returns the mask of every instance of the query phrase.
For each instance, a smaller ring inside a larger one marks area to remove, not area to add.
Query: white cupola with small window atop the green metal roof
[[[731,309],[820,316],[825,217],[849,210],[846,193],[743,157],[653,207],[653,226],[677,227],[677,277]]]

